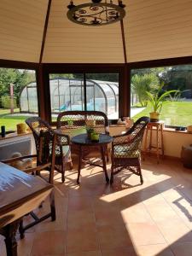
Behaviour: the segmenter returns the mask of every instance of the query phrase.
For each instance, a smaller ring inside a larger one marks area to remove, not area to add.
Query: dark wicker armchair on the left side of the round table
[[[62,183],[65,181],[65,169],[67,161],[70,162],[71,168],[73,168],[72,160],[71,160],[71,153],[69,148],[70,139],[65,134],[60,134],[58,131],[54,131],[50,125],[45,122],[43,119],[39,117],[32,117],[29,119],[26,119],[26,124],[29,125],[29,127],[32,130],[32,134],[35,140],[37,154],[39,153],[39,138],[41,131],[48,131],[47,137],[44,138],[44,160],[48,160],[51,157],[51,148],[52,148],[52,142],[51,137],[53,137],[54,134],[56,134],[56,144],[55,144],[55,170],[57,172],[61,172],[61,180]],[[49,168],[47,168],[49,171],[49,183],[53,183],[53,172]]]

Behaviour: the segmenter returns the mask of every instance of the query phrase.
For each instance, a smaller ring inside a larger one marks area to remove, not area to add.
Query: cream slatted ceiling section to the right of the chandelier
[[[125,2],[128,62],[192,55],[192,0]]]

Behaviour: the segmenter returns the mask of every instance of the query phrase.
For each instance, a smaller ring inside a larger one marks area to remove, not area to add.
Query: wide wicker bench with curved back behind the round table
[[[57,129],[67,134],[70,138],[86,133],[86,128],[92,127],[94,131],[109,134],[108,117],[101,111],[65,111],[57,117]],[[98,148],[91,147],[93,151]],[[72,145],[73,154],[79,154],[79,148]],[[92,151],[91,150],[91,151]],[[108,160],[108,148],[105,150]],[[84,148],[83,158],[90,154],[90,148]]]

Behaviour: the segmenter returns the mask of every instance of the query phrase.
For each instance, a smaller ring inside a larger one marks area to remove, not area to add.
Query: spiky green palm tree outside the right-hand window
[[[131,79],[131,90],[137,94],[142,107],[148,104],[147,91],[154,91],[158,88],[159,79],[154,73],[145,73],[143,75],[135,74]]]

